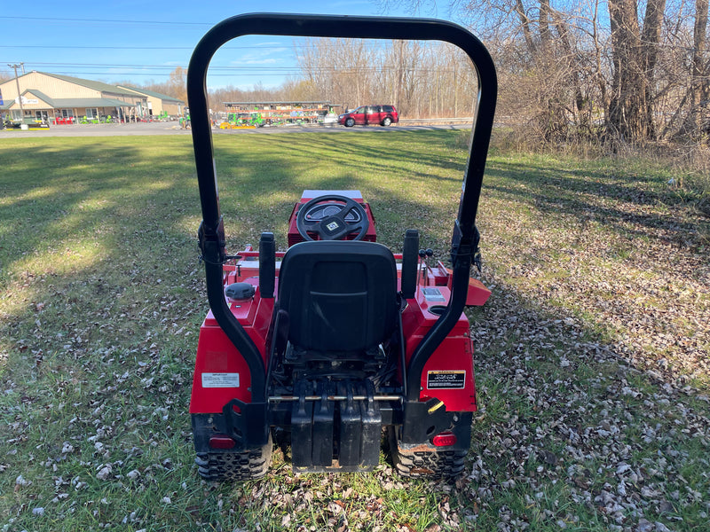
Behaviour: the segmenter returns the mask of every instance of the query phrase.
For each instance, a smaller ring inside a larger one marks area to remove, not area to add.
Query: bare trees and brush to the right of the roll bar
[[[452,0],[447,8],[493,54],[499,118],[533,135],[626,142],[707,136],[708,0]]]

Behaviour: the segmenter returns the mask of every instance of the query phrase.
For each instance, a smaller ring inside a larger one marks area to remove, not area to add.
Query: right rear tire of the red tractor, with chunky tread
[[[468,450],[446,450],[429,442],[406,446],[395,427],[388,428],[392,465],[399,475],[412,479],[451,479],[463,472]]]

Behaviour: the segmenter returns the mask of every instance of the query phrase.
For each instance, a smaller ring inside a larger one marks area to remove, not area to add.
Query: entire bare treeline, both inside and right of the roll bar
[[[399,4],[419,12],[436,5]],[[531,138],[697,142],[710,132],[708,0],[451,0],[447,7],[493,55],[497,120]],[[312,39],[297,56],[300,76],[279,89],[223,89],[210,100],[394,104],[405,118],[473,112],[475,74],[446,43]]]

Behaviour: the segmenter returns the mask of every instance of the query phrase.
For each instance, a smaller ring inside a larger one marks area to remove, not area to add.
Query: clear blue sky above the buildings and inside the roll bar
[[[5,2],[0,15],[0,69],[24,62],[26,71],[75,75],[104,82],[163,82],[186,67],[209,27],[245,12],[380,15],[371,0],[236,0],[175,2]],[[406,14],[401,9],[387,13]],[[280,85],[297,73],[292,37],[245,36],[225,44],[210,64],[210,88]],[[297,43],[296,43],[297,45]],[[234,70],[238,67],[239,70]]]

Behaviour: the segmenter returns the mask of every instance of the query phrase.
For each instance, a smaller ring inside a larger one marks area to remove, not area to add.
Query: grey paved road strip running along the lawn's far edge
[[[307,131],[395,131],[415,129],[469,129],[470,125],[428,125],[428,126],[369,126],[345,128],[343,126],[279,126],[256,129],[212,129],[213,135],[254,135],[269,133],[295,133]],[[18,137],[123,137],[133,135],[190,135],[189,129],[180,129],[177,122],[145,122],[130,124],[74,124],[71,126],[51,126],[50,129],[21,131],[18,129],[0,129],[0,138]]]

